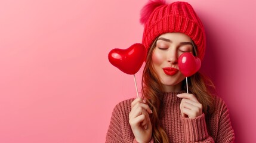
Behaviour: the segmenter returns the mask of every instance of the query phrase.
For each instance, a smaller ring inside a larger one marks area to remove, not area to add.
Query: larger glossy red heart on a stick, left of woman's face
[[[127,74],[135,74],[140,70],[146,57],[146,48],[141,43],[134,43],[128,49],[112,49],[109,62]]]

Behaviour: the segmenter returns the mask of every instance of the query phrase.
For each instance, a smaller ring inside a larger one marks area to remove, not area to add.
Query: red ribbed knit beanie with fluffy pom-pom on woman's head
[[[140,22],[144,24],[142,43],[147,49],[158,36],[180,32],[195,42],[198,57],[203,59],[206,45],[205,30],[198,15],[187,2],[166,4],[164,0],[149,1],[141,10]]]

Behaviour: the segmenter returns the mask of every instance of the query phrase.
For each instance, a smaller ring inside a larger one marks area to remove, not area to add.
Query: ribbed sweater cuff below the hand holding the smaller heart
[[[203,141],[208,137],[205,114],[201,114],[201,116],[198,116],[195,119],[181,117],[181,123],[183,123],[186,142]]]

